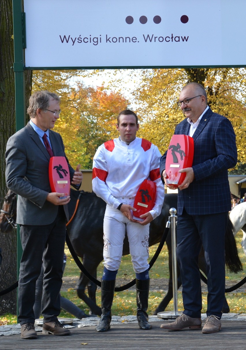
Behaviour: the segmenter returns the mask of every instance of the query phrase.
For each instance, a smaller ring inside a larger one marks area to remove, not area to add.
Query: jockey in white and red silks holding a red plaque
[[[159,172],[161,154],[151,142],[136,137],[139,130],[136,114],[130,110],[120,112],[116,128],[120,137],[99,146],[93,160],[92,189],[107,203],[101,281],[102,315],[96,328],[98,332],[110,329],[115,279],[125,233],[136,273],[139,328],[152,328],[146,313],[149,294],[149,223],[160,215],[164,200]],[[151,181],[154,186],[151,186]],[[145,210],[142,211],[143,208]]]

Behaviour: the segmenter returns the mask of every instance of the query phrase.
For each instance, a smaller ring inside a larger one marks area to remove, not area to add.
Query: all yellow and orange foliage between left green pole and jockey
[[[61,96],[62,113],[54,130],[63,137],[71,165],[92,169],[98,146],[118,135],[116,118],[129,102],[120,92],[78,82],[82,75],[85,72],[34,71],[33,92],[47,89]]]

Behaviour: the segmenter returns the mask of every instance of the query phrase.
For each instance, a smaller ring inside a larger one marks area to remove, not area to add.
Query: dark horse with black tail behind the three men
[[[80,195],[75,217],[67,227],[67,231],[71,243],[76,254],[82,258],[83,265],[93,277],[97,277],[97,267],[103,260],[103,218],[106,204],[94,193],[75,191],[71,189],[71,201],[68,205],[69,216],[72,217],[77,199]],[[161,215],[150,223],[149,229],[149,246],[160,242],[164,228],[168,220],[169,209],[177,208],[177,194],[166,194],[162,206]],[[11,219],[11,220],[10,220]],[[0,213],[0,232],[10,232],[16,221],[16,195],[12,191],[8,191]],[[219,224],[219,223],[218,223]],[[241,262],[238,258],[236,242],[233,236],[233,226],[229,220],[226,231],[226,264],[230,271],[238,272],[241,270]],[[173,279],[172,279],[172,259],[171,259],[171,235],[170,232],[166,239],[169,254],[169,288],[166,296],[155,310],[157,312],[164,311],[168,303],[173,297]],[[129,244],[127,237],[124,240],[123,255],[129,254]],[[158,260],[156,262],[158,264]],[[199,268],[206,274],[206,266],[204,260],[204,252],[201,250],[199,255]],[[178,275],[178,287],[181,286],[180,272]],[[85,294],[87,286],[88,295]],[[91,313],[100,315],[101,309],[96,305],[96,288],[97,286],[91,282],[83,273],[77,285],[77,294],[89,307]],[[229,306],[224,302],[223,312],[228,313]]]

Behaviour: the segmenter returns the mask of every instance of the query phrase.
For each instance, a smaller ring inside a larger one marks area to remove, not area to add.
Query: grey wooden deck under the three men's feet
[[[43,335],[37,339],[21,339],[20,334],[0,337],[1,350],[160,350],[160,349],[245,349],[246,322],[222,321],[218,333],[202,334],[201,330],[168,331],[161,323],[152,323],[152,330],[143,331],[136,323],[112,325],[110,331],[97,333],[95,327],[72,328],[70,336]],[[87,344],[82,344],[87,343]]]

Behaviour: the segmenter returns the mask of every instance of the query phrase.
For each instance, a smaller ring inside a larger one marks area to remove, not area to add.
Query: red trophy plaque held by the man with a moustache
[[[167,184],[178,187],[185,178],[185,173],[178,170],[192,166],[194,155],[194,140],[188,135],[173,135],[166,158]]]

